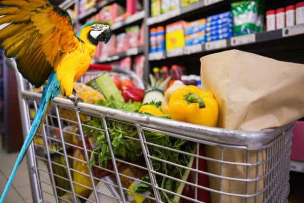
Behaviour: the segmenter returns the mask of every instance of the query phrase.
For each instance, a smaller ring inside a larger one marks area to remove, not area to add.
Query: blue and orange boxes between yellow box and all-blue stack
[[[193,46],[205,42],[206,19],[187,22],[184,28],[185,46]]]

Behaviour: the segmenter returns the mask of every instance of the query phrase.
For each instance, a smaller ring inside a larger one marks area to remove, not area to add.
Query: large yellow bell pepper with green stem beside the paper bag
[[[171,119],[214,127],[218,104],[211,92],[189,85],[174,91],[169,99]]]

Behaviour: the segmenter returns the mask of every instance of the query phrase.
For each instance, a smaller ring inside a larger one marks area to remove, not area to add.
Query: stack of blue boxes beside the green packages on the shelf
[[[209,16],[206,19],[206,41],[228,39],[233,36],[232,28],[232,15],[230,11]]]

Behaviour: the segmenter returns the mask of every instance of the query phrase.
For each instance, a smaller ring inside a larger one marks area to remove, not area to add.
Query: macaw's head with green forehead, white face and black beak
[[[92,44],[97,45],[99,41],[107,43],[111,38],[111,29],[107,22],[102,20],[91,20],[81,26],[77,33],[80,38],[80,33],[84,28],[90,27],[88,39]]]

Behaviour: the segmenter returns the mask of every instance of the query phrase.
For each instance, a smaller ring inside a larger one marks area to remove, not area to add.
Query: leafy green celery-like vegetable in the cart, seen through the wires
[[[131,112],[138,112],[139,108],[142,106],[141,103],[136,103],[136,102],[121,103],[115,101],[113,98],[108,100],[108,103],[104,101],[100,101],[97,104],[101,106],[107,106],[121,110],[128,110]],[[160,106],[160,104],[156,106]],[[103,122],[101,118],[98,117],[92,118],[87,123],[87,125],[104,129]],[[135,126],[117,121],[109,121],[109,120],[107,121],[107,126],[109,130],[113,152],[116,157],[133,163],[134,162],[138,163],[138,161],[143,160],[143,152],[140,143],[138,141],[134,141],[132,139],[126,138],[126,137],[131,137],[131,138],[139,139]],[[98,162],[99,162],[98,164],[103,167],[106,167],[107,161],[108,159],[110,159],[110,153],[107,145],[105,132],[89,127],[84,127],[84,130],[89,136],[94,137],[98,144],[98,147],[92,150],[90,157],[90,167],[95,165],[96,155],[98,155]],[[165,134],[150,132],[150,131],[144,131],[144,134],[147,142],[150,143],[154,143],[164,147],[169,147],[172,149],[181,150],[190,153],[193,153],[193,151],[195,150],[196,145],[189,141],[169,137]],[[159,161],[159,159],[172,162],[175,164],[179,164],[182,166],[189,166],[189,165],[192,166],[191,162],[193,162],[193,160],[191,161],[190,156],[151,145],[148,145],[148,149],[150,155],[155,158],[155,159],[151,159],[153,169],[155,171],[158,171],[166,175],[170,175],[178,179],[184,179],[188,177],[186,170]],[[142,161],[141,163],[145,165],[144,161]],[[148,174],[144,176],[142,179],[143,181],[150,182],[150,178]],[[156,175],[156,181],[158,185],[160,185],[164,189],[173,192],[179,192],[179,193],[182,192],[183,185],[180,184],[180,182],[173,181],[170,178],[166,178],[160,175]],[[152,188],[150,185],[147,185],[145,183],[141,183],[137,185],[134,189],[134,192],[137,193],[143,193],[146,191],[152,191]],[[177,203],[175,201],[178,200],[178,198],[176,198],[174,195],[165,192],[161,192],[161,198],[164,202]]]

